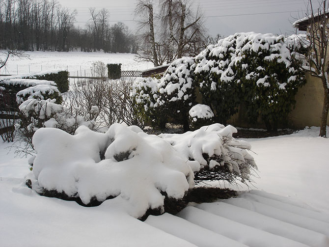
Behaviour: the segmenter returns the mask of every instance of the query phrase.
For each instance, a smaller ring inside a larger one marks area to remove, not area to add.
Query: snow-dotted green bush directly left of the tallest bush
[[[160,80],[149,78],[137,82],[133,95],[139,112],[146,115],[148,121],[158,121],[158,126],[164,127],[169,118],[174,118],[185,131],[189,130],[189,110],[195,101],[194,66],[193,58],[179,58],[169,65]]]

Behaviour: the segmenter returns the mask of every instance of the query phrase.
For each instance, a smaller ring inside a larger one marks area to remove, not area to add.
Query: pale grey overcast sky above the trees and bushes
[[[318,3],[313,0],[314,4]],[[90,21],[89,7],[106,8],[111,23],[123,22],[132,31],[136,29],[134,9],[136,0],[58,0],[70,9],[76,9],[77,24],[84,27]],[[154,0],[158,3],[158,0]],[[291,23],[301,19],[308,0],[192,0],[206,17],[206,27],[211,35],[228,36],[236,32],[261,32],[292,34]],[[92,5],[91,5],[92,4]]]

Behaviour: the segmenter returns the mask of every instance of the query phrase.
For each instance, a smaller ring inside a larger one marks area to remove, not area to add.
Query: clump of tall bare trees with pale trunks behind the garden
[[[154,25],[152,2],[139,0],[135,14],[142,17],[146,12],[150,14],[149,18],[142,20],[140,27],[150,27],[150,32],[141,35],[143,45],[139,47],[138,59],[152,61],[158,66],[183,55],[196,55],[205,48],[203,44],[206,29],[202,13],[199,8],[196,12],[193,11],[189,1],[161,0],[160,14],[157,15],[159,18],[156,19],[159,25]]]

